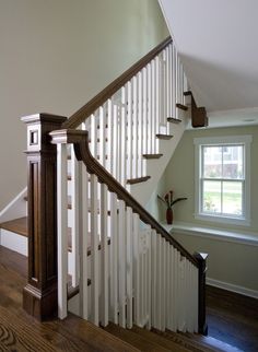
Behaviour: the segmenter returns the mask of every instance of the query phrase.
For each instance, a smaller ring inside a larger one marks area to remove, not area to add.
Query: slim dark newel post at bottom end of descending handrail
[[[206,322],[206,272],[207,272],[207,258],[206,253],[195,253],[194,257],[199,262],[199,281],[198,281],[198,332],[208,335],[208,326]]]

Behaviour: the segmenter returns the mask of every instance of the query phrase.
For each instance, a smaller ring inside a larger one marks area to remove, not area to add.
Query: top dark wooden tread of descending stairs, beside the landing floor
[[[113,333],[117,338],[130,343],[140,351],[148,351],[148,352],[165,352],[171,351],[169,349],[163,348],[157,343],[150,341],[149,339],[140,336],[139,333],[133,332],[132,330],[124,329],[113,322],[108,324],[105,327],[105,330],[109,333]]]

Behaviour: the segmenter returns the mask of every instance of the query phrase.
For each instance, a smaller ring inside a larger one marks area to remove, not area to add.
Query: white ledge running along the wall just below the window
[[[168,230],[168,228],[167,228]],[[181,233],[189,236],[210,238],[221,242],[232,242],[235,244],[245,244],[248,246],[258,246],[258,233],[225,231],[215,227],[202,227],[191,223],[175,223],[168,230],[173,233]]]

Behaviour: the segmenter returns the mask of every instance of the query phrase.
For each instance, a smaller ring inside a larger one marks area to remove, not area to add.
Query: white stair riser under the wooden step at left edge
[[[0,245],[27,257],[27,237],[8,230],[0,230]]]

